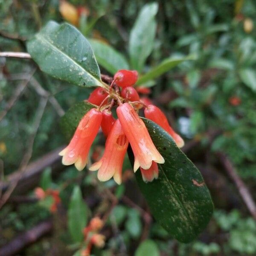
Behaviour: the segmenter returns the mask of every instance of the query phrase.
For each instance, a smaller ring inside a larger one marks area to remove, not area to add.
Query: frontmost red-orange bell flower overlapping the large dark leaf
[[[164,159],[154,146],[144,122],[134,108],[128,103],[124,103],[119,105],[116,113],[134,152],[134,172],[140,166],[143,169],[149,169],[152,161],[164,163]]]

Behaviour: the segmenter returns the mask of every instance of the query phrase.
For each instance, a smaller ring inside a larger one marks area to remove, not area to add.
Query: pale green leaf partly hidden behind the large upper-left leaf
[[[129,69],[129,64],[125,57],[117,52],[113,47],[99,40],[90,40],[96,60],[108,72],[114,75],[120,69]]]

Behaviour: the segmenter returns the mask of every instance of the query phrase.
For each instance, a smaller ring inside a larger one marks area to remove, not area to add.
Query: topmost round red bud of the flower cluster
[[[138,79],[138,72],[136,70],[118,70],[114,75],[116,84],[122,88],[132,86]]]

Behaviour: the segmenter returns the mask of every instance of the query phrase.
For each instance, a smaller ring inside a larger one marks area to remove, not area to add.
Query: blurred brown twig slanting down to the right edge
[[[235,183],[236,188],[238,189],[239,194],[241,195],[241,198],[243,199],[245,205],[247,206],[247,209],[249,210],[250,214],[253,216],[254,219],[256,219],[256,204],[253,200],[252,195],[250,194],[249,189],[241,180],[239,175],[237,175],[236,170],[231,161],[228,159],[228,157],[221,152],[218,152],[218,157],[223,166],[225,167],[230,179],[233,180],[233,182]]]

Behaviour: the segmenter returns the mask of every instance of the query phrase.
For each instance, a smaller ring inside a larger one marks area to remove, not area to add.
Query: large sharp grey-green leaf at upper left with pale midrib
[[[82,87],[105,87],[87,39],[68,23],[49,21],[27,43],[34,61],[45,73]]]

